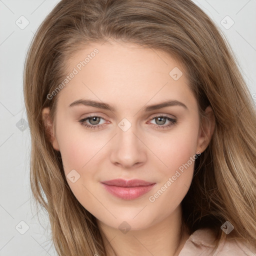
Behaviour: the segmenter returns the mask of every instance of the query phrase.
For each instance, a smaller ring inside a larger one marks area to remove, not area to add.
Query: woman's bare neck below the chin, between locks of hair
[[[182,228],[181,206],[171,215],[145,229],[122,233],[97,220],[106,256],[161,255],[177,256],[189,234]]]

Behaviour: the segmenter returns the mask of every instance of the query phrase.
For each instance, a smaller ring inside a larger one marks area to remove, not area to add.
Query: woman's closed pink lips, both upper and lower
[[[101,184],[112,195],[124,200],[131,200],[147,193],[156,183],[141,179],[112,179],[102,181]]]

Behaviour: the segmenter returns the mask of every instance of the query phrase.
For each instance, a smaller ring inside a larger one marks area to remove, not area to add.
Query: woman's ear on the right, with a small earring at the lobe
[[[203,152],[208,146],[215,128],[215,117],[210,106],[204,110],[197,138],[196,152]]]

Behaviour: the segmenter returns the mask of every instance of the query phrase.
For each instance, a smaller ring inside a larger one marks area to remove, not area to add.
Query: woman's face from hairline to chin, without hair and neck
[[[184,68],[163,51],[117,42],[91,44],[67,64],[48,98],[58,97],[52,145],[77,200],[114,228],[171,215],[207,146]]]

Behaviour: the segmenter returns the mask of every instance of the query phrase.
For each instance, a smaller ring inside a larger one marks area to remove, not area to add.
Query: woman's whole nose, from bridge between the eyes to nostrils
[[[139,131],[136,130],[136,125],[124,118],[116,128],[117,134],[111,152],[111,161],[124,167],[131,167],[135,163],[145,161],[146,152],[142,142],[137,138]]]

